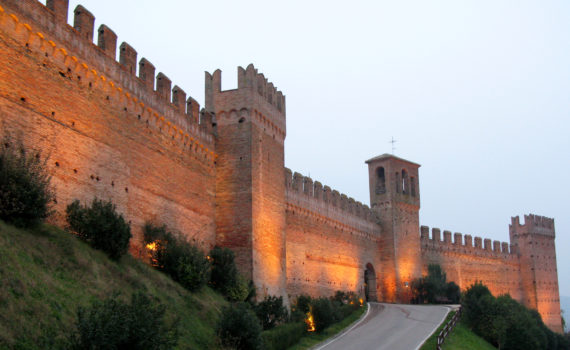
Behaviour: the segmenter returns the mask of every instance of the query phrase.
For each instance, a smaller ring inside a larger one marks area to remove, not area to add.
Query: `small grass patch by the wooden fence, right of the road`
[[[420,350],[433,350],[437,345],[437,336],[443,329],[445,324],[455,315],[455,311],[450,312],[445,321],[436,329],[436,331],[426,340]],[[487,343],[483,338],[471,332],[460,321],[451,335],[445,340],[443,344],[445,350],[496,350],[491,344]]]

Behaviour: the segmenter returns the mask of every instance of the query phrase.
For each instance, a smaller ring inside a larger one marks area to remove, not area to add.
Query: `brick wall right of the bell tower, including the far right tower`
[[[439,264],[450,281],[465,289],[477,281],[493,295],[509,294],[536,309],[546,325],[561,332],[560,296],[556,265],[554,219],[525,215],[509,225],[510,244],[463,236],[450,231],[421,226],[421,253],[424,269]]]

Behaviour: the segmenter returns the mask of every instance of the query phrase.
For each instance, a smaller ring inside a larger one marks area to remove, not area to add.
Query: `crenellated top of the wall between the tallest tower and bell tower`
[[[288,168],[284,170],[286,201],[289,205],[304,208],[363,232],[378,232],[376,215],[367,205],[332,190],[329,186],[323,186],[308,176],[293,173]]]

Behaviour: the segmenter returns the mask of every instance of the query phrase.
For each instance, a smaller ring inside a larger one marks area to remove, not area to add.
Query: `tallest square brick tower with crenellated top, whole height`
[[[216,244],[236,253],[258,297],[286,296],[285,96],[253,65],[238,67],[238,88],[221,91],[206,73],[206,112],[214,114]]]

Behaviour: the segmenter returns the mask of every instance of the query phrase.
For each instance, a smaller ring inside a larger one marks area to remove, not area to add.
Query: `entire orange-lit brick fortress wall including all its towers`
[[[407,283],[438,263],[461,288],[482,280],[561,330],[552,219],[513,218],[510,244],[430,237],[419,165],[371,159],[369,208],[284,167],[285,96],[253,65],[233,90],[206,73],[200,111],[107,26],[95,45],[85,8],[73,27],[67,17],[68,0],[0,0],[0,133],[49,155],[57,223],[74,199],[111,199],[131,222],[133,254],[146,221],[166,223],[204,249],[234,249],[258,295],[286,299],[341,289],[406,301]]]

